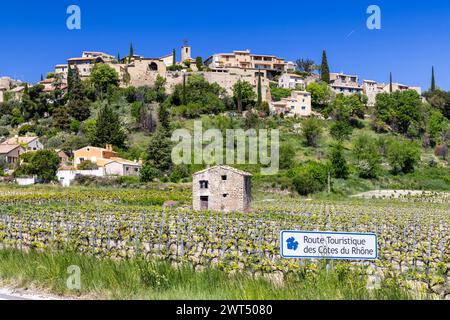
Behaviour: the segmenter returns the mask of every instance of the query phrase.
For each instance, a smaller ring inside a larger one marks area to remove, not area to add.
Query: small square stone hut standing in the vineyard
[[[224,165],[194,173],[194,210],[248,211],[252,200],[251,177],[250,173]]]

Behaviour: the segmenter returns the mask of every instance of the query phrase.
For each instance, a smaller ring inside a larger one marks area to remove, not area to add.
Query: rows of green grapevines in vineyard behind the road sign
[[[163,207],[168,200],[179,206]],[[448,196],[256,199],[252,213],[193,212],[189,202],[187,191],[176,190],[0,188],[0,246],[144,257],[282,279],[292,272],[314,273],[319,262],[281,258],[281,230],[374,232],[377,261],[329,261],[329,266],[450,298]]]

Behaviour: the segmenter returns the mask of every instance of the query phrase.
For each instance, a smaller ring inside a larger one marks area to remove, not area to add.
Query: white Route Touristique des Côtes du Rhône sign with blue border
[[[281,256],[301,259],[378,259],[373,233],[281,231]]]

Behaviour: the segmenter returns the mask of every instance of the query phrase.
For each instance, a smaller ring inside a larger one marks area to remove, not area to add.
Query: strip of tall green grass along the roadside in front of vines
[[[81,270],[81,290],[66,286],[67,268]],[[308,271],[306,271],[308,270]],[[68,252],[0,250],[0,281],[21,288],[37,287],[65,296],[95,299],[410,299],[392,281],[368,290],[366,280],[348,268],[327,272],[290,273],[284,280],[261,276],[226,274],[216,268],[194,271],[166,262],[98,260]]]

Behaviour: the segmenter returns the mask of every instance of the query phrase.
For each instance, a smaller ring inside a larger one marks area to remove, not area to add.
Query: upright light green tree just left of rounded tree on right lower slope
[[[376,178],[381,170],[381,155],[377,140],[367,134],[359,135],[353,143],[355,166],[361,178]]]

